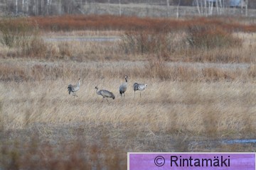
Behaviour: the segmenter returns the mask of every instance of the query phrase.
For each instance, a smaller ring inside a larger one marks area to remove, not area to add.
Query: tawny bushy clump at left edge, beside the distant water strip
[[[39,36],[38,26],[26,18],[1,18],[0,42],[16,49],[18,56],[45,57],[46,44]]]

